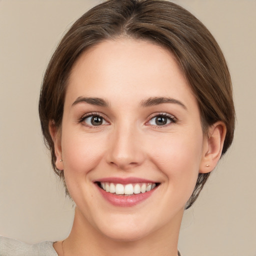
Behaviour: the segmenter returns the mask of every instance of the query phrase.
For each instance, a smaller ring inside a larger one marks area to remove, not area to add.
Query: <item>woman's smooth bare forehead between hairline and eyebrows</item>
[[[79,56],[69,76],[66,97],[111,99],[119,95],[128,102],[134,93],[140,97],[192,96],[170,51],[148,41],[119,38],[102,41]]]

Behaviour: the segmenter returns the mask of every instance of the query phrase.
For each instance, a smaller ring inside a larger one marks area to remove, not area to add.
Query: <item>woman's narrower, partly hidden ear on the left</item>
[[[54,143],[54,152],[56,156],[55,165],[59,170],[64,168],[62,160],[62,150],[61,150],[61,129],[57,128],[53,120],[49,121],[49,132],[51,139]]]

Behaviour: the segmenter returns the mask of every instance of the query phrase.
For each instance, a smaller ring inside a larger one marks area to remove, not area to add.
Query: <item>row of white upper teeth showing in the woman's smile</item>
[[[120,183],[100,182],[100,186],[106,192],[130,195],[148,192],[155,187],[155,183],[130,183],[123,185]]]

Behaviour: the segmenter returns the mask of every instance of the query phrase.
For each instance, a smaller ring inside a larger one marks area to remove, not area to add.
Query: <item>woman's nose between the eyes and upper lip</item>
[[[141,133],[131,125],[122,125],[109,136],[107,162],[118,169],[139,166],[145,158]]]

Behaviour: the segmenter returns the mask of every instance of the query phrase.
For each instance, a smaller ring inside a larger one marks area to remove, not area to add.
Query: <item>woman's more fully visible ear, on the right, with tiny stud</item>
[[[203,141],[199,173],[214,169],[221,156],[225,135],[226,125],[222,121],[215,122],[208,128],[208,136],[205,136]]]

